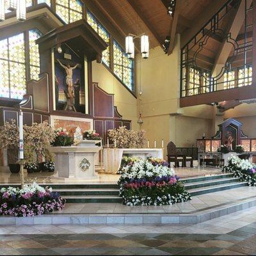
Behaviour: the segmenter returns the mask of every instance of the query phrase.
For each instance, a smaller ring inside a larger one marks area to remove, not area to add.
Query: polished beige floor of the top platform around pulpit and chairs
[[[179,177],[195,177],[195,176],[202,176],[202,175],[214,175],[216,173],[220,173],[220,170],[216,168],[206,167],[206,168],[175,168],[175,174]],[[74,182],[84,183],[84,184],[93,184],[97,183],[114,183],[119,179],[119,175],[115,174],[104,174],[100,173],[97,179],[87,179],[87,180],[72,180],[72,179],[60,179],[56,177],[56,173],[49,173],[49,172],[39,172],[39,173],[27,173],[24,172],[24,179],[25,182],[33,182],[36,181],[38,183],[47,183],[47,184],[74,184]],[[20,175],[19,173],[10,173],[8,168],[0,167],[0,184],[15,184],[20,183]]]

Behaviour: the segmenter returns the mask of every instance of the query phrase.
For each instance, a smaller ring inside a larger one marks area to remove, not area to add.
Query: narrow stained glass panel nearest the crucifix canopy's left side
[[[30,67],[30,79],[38,79],[40,74],[40,56],[38,52],[38,45],[35,40],[39,38],[41,33],[38,30],[29,31],[29,67]]]

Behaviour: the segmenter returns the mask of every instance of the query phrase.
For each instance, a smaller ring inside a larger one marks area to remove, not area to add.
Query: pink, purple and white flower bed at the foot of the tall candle
[[[0,215],[30,217],[63,209],[66,200],[51,188],[42,188],[35,182],[19,188],[1,188]]]

